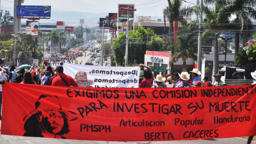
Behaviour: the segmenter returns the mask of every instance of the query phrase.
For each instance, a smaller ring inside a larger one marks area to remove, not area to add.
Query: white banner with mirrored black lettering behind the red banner
[[[140,67],[102,67],[64,63],[63,73],[79,87],[139,87]]]

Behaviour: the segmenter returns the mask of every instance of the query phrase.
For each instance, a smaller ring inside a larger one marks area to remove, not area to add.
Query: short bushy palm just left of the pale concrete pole
[[[178,38],[178,45],[176,49],[174,49],[174,55],[171,57],[171,63],[177,61],[179,58],[182,59],[182,71],[187,70],[187,63],[186,60],[189,57],[192,57],[194,60],[197,60],[197,46],[198,40],[194,34],[190,34],[186,37],[179,37]]]

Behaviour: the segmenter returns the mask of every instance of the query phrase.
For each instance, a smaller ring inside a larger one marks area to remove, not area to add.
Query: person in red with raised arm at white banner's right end
[[[153,86],[153,73],[152,69],[146,65],[140,64],[139,67],[145,67],[144,79],[141,81],[140,87],[152,87]]]

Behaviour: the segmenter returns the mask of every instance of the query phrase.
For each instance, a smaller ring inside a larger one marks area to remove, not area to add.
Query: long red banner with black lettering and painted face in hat
[[[256,87],[121,89],[5,83],[1,134],[100,141],[256,135]]]

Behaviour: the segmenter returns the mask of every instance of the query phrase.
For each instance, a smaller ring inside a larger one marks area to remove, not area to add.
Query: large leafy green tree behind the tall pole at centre
[[[152,41],[152,42],[150,42]],[[118,38],[113,41],[113,50],[115,54],[115,61],[118,66],[124,66],[125,62],[125,47],[126,34],[121,33]],[[147,44],[147,42],[149,42]],[[129,50],[128,50],[128,65],[135,63],[144,63],[144,55],[147,50],[161,50],[163,40],[156,36],[154,30],[144,29],[143,27],[135,27],[134,30],[129,31]]]

